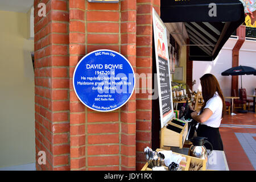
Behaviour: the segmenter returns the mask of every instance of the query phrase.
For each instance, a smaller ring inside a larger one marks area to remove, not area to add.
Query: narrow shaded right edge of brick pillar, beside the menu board
[[[137,0],[137,58],[136,72],[139,88],[136,95],[136,167],[146,163],[145,147],[151,147],[152,126],[152,7],[160,14],[160,0]],[[144,76],[146,78],[144,79]],[[146,81],[144,86],[142,81]],[[138,85],[138,84],[137,84]]]

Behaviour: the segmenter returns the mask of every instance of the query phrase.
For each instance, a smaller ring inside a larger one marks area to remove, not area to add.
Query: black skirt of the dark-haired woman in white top
[[[223,151],[223,143],[220,136],[220,131],[218,130],[218,127],[210,127],[207,125],[201,125],[197,127],[196,130],[197,137],[206,137],[207,140],[212,143],[213,150],[222,150]],[[207,149],[210,149],[210,146],[208,143],[205,143],[205,147]]]

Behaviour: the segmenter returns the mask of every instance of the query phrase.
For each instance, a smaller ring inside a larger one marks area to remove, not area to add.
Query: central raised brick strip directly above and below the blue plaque
[[[86,4],[86,53],[96,49],[119,52],[119,4]],[[120,110],[100,113],[86,108],[85,146],[88,170],[120,169]]]

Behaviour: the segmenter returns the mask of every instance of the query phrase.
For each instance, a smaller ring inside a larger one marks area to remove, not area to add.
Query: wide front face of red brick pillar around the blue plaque
[[[73,71],[82,56],[96,49],[121,52],[135,69],[135,1],[69,1],[71,170],[135,169],[135,94],[121,109],[91,110],[76,97]]]

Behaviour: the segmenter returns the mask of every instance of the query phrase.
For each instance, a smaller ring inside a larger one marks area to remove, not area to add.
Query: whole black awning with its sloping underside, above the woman
[[[216,4],[216,16],[209,16],[209,10],[212,9],[212,7],[209,7],[210,3]],[[163,22],[190,22],[188,23],[189,26],[201,34],[196,34],[196,36],[200,37],[204,42],[206,42],[205,39],[207,39],[207,44],[210,42],[216,45],[209,49],[210,52],[207,51],[209,55],[201,49],[202,47],[190,46],[189,59],[191,60],[214,60],[230,35],[245,21],[243,5],[239,0],[161,0],[160,10]],[[197,24],[195,25],[192,22],[197,22]],[[214,28],[220,31],[220,35],[216,34],[216,32],[202,22],[210,23]],[[186,26],[186,28],[189,30],[188,26]],[[202,30],[207,31],[213,36],[215,41],[209,38]],[[189,32],[188,35],[189,38],[192,39],[193,35],[189,34]],[[197,40],[198,39],[196,39],[196,41]],[[193,40],[193,42],[195,41]]]

